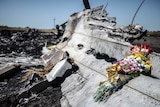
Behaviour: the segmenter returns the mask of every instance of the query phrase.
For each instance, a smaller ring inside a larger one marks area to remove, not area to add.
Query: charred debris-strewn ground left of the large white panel
[[[1,107],[60,106],[60,84],[78,70],[73,61],[67,58],[67,52],[54,46],[61,41],[62,33],[60,29],[58,35],[31,29],[25,33],[0,35]],[[43,54],[44,48],[47,51]],[[65,58],[66,65],[62,65],[62,72],[58,71],[54,79],[48,82],[46,74]]]

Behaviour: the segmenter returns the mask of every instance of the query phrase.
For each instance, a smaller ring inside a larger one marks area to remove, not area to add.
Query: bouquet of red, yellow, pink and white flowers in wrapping
[[[149,59],[150,52],[152,49],[148,44],[135,45],[124,59],[108,67],[107,80],[100,82],[94,96],[95,101],[106,101],[112,93],[140,74],[150,75],[152,67]]]

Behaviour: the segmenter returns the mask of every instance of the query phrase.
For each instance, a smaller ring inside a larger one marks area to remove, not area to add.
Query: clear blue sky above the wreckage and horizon
[[[89,0],[91,8],[108,6],[110,17],[117,18],[117,25],[131,23],[142,0]],[[0,0],[0,25],[52,29],[69,16],[84,9],[83,0]],[[147,30],[160,30],[160,0],[145,0],[134,24]]]

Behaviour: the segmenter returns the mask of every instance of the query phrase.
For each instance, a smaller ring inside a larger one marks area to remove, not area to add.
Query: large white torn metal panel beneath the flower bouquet
[[[105,14],[103,14],[102,16],[101,8],[98,7],[73,14],[68,21],[64,38],[68,37],[70,39],[67,41],[66,46],[63,47],[62,50],[67,51],[70,54],[70,57],[75,59],[75,62],[77,62],[80,67],[80,76],[82,79],[87,81],[83,83],[82,88],[78,89],[77,82],[67,82],[68,80],[72,81],[72,77],[68,77],[64,81],[61,85],[63,92],[63,97],[61,99],[62,107],[114,107],[118,105],[121,107],[134,107],[138,105],[158,107],[160,105],[159,96],[158,100],[153,98],[151,96],[152,93],[150,89],[145,89],[147,91],[143,90],[143,92],[140,92],[140,89],[143,89],[143,87],[139,89],[134,86],[128,87],[127,85],[125,85],[122,90],[115,93],[107,102],[94,102],[93,96],[99,85],[100,79],[105,78],[106,68],[111,63],[114,63],[114,61],[112,62],[108,60],[121,60],[124,58],[132,46],[127,39],[138,39],[145,33],[145,30],[140,25],[116,26],[116,18],[108,17],[107,15],[108,14],[105,16]],[[71,26],[73,24],[75,25],[74,28]],[[94,50],[94,52],[88,52],[88,50]],[[100,53],[100,57],[95,53]],[[106,58],[107,55],[109,58]],[[151,62],[153,62],[154,65],[153,74],[155,75],[159,72],[159,63],[155,63],[160,61],[158,59],[159,55],[157,55],[156,58],[153,58],[153,56],[154,53],[151,55]],[[159,78],[159,74],[155,76]],[[141,84],[143,83],[145,82],[142,81]],[[70,86],[70,84],[73,86],[72,89],[67,89],[66,86]],[[134,81],[134,84],[137,84],[137,86],[142,86],[136,80]],[[149,84],[146,85],[148,87]],[[155,88],[158,90],[157,86]],[[125,93],[128,94],[126,95]],[[155,93],[157,93],[157,91]],[[135,101],[135,99],[141,100]]]

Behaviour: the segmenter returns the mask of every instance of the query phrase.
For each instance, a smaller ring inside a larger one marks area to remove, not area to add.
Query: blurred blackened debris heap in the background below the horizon
[[[56,45],[60,42],[60,37],[54,33],[41,33],[36,29],[12,33],[10,36],[0,35],[0,54],[22,54],[39,58],[45,43]]]

